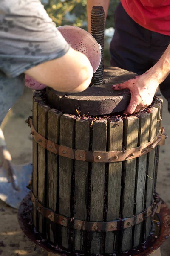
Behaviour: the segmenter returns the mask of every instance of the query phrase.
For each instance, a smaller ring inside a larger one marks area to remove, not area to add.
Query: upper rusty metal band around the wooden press
[[[31,118],[29,118],[26,122],[28,122],[29,126],[31,127],[31,134],[33,135],[34,140],[43,148],[62,157],[86,162],[113,163],[140,157],[152,151],[154,148],[156,148],[157,145],[164,145],[165,139],[167,138],[167,135],[164,133],[164,128],[162,127],[159,130],[158,135],[153,140],[140,147],[121,151],[90,152],[68,148],[56,144],[51,140],[47,140],[36,131],[34,125],[32,124]]]

